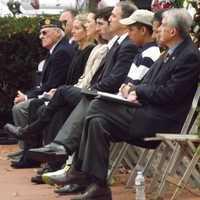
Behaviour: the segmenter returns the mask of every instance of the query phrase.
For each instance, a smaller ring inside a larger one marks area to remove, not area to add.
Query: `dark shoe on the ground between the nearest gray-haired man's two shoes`
[[[54,192],[59,195],[67,195],[67,194],[81,193],[85,191],[85,189],[86,189],[86,186],[72,184],[72,185],[65,185],[62,188],[54,190]]]

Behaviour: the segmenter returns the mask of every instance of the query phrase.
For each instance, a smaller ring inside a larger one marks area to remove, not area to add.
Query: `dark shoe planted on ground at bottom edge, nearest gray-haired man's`
[[[112,200],[109,187],[101,187],[96,183],[91,184],[82,195],[75,196],[71,200]]]

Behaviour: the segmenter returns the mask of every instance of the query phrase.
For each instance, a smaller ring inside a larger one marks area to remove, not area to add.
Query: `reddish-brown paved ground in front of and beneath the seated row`
[[[16,151],[16,145],[0,146],[0,200],[69,200],[70,196],[58,196],[49,185],[35,185],[30,178],[36,169],[13,169],[6,153]],[[123,180],[121,180],[123,182]],[[132,190],[124,189],[123,184],[112,187],[113,200],[134,200]],[[106,199],[105,199],[106,200]],[[149,200],[149,199],[147,199]],[[167,196],[164,200],[168,200]],[[178,200],[200,200],[188,193]]]

